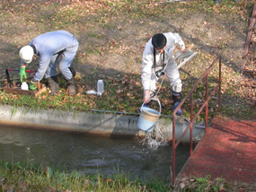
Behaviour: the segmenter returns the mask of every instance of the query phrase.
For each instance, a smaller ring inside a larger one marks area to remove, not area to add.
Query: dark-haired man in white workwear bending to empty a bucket
[[[160,76],[166,74],[172,88],[172,110],[181,103],[181,78],[177,64],[173,58],[173,50],[177,45],[181,51],[185,50],[185,43],[178,33],[158,33],[146,43],[142,59],[142,84],[144,101],[149,107],[150,98],[154,97],[155,83]],[[181,109],[177,115],[182,115]]]

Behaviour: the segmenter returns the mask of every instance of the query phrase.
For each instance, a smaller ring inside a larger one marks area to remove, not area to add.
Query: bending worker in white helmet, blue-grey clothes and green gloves
[[[36,90],[37,82],[45,76],[49,83],[50,95],[56,94],[59,90],[56,73],[58,67],[60,74],[66,79],[68,94],[75,95],[75,68],[71,64],[78,46],[79,42],[75,36],[67,31],[50,31],[32,39],[29,45],[22,47],[19,52],[22,62],[21,82],[23,78],[27,78],[26,66],[34,56],[39,56],[40,65],[31,80],[30,90]]]

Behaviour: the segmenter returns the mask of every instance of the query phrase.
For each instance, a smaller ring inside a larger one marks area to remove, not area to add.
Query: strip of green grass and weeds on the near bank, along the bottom
[[[253,184],[226,182],[225,179],[210,180],[191,178],[178,181],[175,186],[161,181],[141,182],[131,180],[125,174],[104,178],[101,175],[66,173],[20,163],[0,162],[0,191],[124,191],[124,192],[167,192],[167,191],[252,191]]]

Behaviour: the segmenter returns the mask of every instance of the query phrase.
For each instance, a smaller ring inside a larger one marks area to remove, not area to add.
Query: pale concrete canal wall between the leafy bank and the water
[[[0,106],[0,124],[15,127],[31,127],[57,131],[69,131],[91,135],[145,137],[146,133],[137,128],[138,115],[109,114],[99,112],[66,112],[57,110],[22,109],[13,106]],[[177,119],[176,138],[178,139],[189,123]],[[172,140],[172,118],[161,117],[154,128],[155,137]],[[193,128],[193,140],[198,142],[204,128]],[[190,141],[190,131],[183,142]]]

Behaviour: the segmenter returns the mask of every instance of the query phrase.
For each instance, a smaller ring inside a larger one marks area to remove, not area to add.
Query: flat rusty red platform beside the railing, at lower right
[[[256,182],[256,121],[215,118],[179,178]]]

